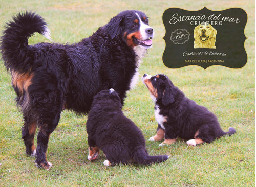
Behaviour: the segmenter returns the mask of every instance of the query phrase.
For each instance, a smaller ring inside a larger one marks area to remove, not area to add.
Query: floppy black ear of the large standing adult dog
[[[111,36],[112,39],[116,36],[121,36],[123,32],[123,19],[123,16],[117,15],[104,26],[106,32]]]

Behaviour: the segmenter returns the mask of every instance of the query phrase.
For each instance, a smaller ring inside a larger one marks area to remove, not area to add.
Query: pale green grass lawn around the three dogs
[[[40,3],[39,3],[40,2]],[[224,3],[223,3],[224,2]],[[165,42],[163,12],[170,7],[199,10],[231,7],[248,14],[245,28],[247,64],[241,69],[198,66],[169,69],[162,62]],[[154,104],[141,82],[126,98],[123,111],[142,130],[151,155],[168,154],[160,165],[105,167],[104,156],[87,160],[86,116],[64,111],[50,138],[50,171],[39,170],[25,155],[20,128],[22,114],[15,105],[10,75],[0,65],[0,186],[255,186],[255,2],[254,1],[14,1],[0,0],[0,29],[19,10],[34,10],[45,17],[55,42],[77,42],[90,36],[111,17],[138,9],[150,17],[156,36],[143,59],[140,75],[164,73],[187,97],[214,112],[223,130],[237,134],[212,144],[189,147],[182,139],[170,146],[147,141],[155,135]],[[30,43],[47,41],[35,34]]]

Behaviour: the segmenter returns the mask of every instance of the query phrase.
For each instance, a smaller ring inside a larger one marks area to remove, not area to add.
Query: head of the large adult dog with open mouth
[[[153,28],[148,26],[148,17],[137,10],[120,12],[105,25],[105,29],[112,38],[122,38],[130,48],[151,48],[155,34]]]

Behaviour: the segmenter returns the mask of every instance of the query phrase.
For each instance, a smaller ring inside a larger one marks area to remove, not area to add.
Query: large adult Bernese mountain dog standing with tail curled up
[[[123,104],[126,91],[138,78],[141,58],[152,46],[154,31],[144,13],[127,10],[74,44],[29,45],[28,39],[35,32],[51,39],[41,16],[29,11],[18,13],[5,26],[0,50],[23,112],[26,153],[35,155],[38,167],[49,169],[48,141],[61,111],[87,114],[93,96],[110,88],[116,90]]]

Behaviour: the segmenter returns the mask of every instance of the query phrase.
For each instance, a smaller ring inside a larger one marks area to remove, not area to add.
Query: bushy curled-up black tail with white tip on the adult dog
[[[18,13],[12,21],[6,24],[0,38],[0,50],[8,70],[26,71],[30,68],[34,57],[28,53],[28,39],[35,32],[51,40],[50,30],[47,28],[44,18],[34,12]]]

